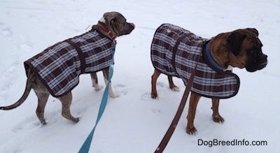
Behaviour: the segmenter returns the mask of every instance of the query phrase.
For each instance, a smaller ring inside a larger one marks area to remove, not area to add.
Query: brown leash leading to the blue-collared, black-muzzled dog
[[[199,56],[197,58],[197,64],[198,64],[198,61],[200,60],[200,57],[201,56]],[[197,69],[197,64],[195,64],[195,68],[193,69],[193,72],[190,75],[190,79],[187,82],[187,87],[185,89],[185,92],[183,93],[183,97],[181,99],[181,103],[180,103],[179,108],[176,112],[176,115],[174,116],[174,119],[172,120],[172,123],[170,124],[167,132],[165,133],[165,136],[162,138],[162,141],[160,142],[160,145],[158,145],[157,149],[155,150],[155,153],[161,153],[161,152],[163,152],[163,150],[165,150],[165,147],[167,146],[167,143],[169,142],[172,134],[174,133],[174,130],[176,129],[176,126],[177,126],[177,124],[179,122],[179,119],[182,115],[183,109],[185,108],[186,101],[187,101],[188,95],[190,93],[190,89],[191,89],[191,87],[193,87],[193,80],[195,78],[195,71]]]

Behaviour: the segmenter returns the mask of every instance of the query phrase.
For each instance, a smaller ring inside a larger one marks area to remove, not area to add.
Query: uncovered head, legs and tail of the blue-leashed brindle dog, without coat
[[[103,26],[101,27],[99,26],[99,24],[102,24]],[[104,13],[102,19],[99,20],[99,24],[92,26],[92,29],[96,29],[104,36],[111,38],[112,41],[114,41],[114,39],[118,36],[130,34],[134,29],[134,24],[128,23],[125,17],[118,12]],[[104,68],[101,71],[103,71],[104,73],[104,79],[106,80],[106,82],[108,82],[109,68]],[[97,85],[96,73],[91,73],[91,76],[92,76],[92,85],[95,86],[96,90],[99,90],[100,87]],[[43,85],[43,82],[41,82],[41,80],[37,78],[37,75],[35,75],[34,71],[32,71],[31,68],[29,68],[28,70],[25,92],[20,98],[20,100],[18,100],[13,105],[0,107],[0,110],[11,110],[13,108],[17,108],[27,99],[27,96],[29,95],[31,89],[34,89],[34,92],[38,97],[38,106],[36,109],[36,115],[40,120],[41,124],[46,124],[44,118],[44,110],[50,92],[48,91],[47,87]],[[110,90],[110,95],[114,96],[112,90]],[[71,120],[72,122],[75,123],[78,122],[79,121],[78,117],[73,117],[70,112],[70,105],[72,101],[71,91],[67,92],[63,96],[57,97],[57,99],[59,99],[59,101],[62,102],[62,116],[65,117],[66,119]]]

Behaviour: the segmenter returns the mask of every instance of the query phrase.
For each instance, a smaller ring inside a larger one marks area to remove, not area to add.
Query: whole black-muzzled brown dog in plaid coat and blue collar
[[[262,53],[261,48],[256,29],[237,29],[207,40],[181,27],[162,24],[155,32],[151,45],[151,59],[155,67],[151,97],[158,98],[156,82],[160,73],[168,75],[169,87],[177,90],[172,76],[182,78],[186,85],[198,62],[186,132],[194,134],[197,131],[193,122],[201,96],[212,99],[214,122],[223,122],[218,112],[219,101],[235,96],[239,89],[239,78],[231,72],[231,68],[246,68],[248,72],[265,68],[267,55]]]

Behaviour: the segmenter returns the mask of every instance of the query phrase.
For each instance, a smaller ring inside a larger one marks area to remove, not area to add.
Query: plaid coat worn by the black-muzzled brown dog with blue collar
[[[181,27],[162,24],[155,31],[151,45],[153,66],[166,75],[181,78],[186,85],[198,62],[192,92],[218,99],[235,96],[239,90],[238,76],[210,62],[213,57],[209,46],[204,45],[206,41]]]

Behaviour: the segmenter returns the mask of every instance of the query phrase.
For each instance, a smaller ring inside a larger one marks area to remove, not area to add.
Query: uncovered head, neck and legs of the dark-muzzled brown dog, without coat
[[[258,38],[258,31],[256,29],[237,29],[211,38],[210,52],[214,60],[223,68],[237,67],[246,68],[248,72],[255,72],[267,65],[267,55],[262,53],[262,43]],[[152,75],[152,90],[151,97],[158,98],[156,91],[156,81],[160,75],[159,70],[155,69]],[[168,76],[169,87],[177,90],[178,87],[174,85],[172,76]],[[195,112],[197,103],[201,95],[191,92],[190,105],[188,108],[188,124],[186,132],[195,134],[196,129],[194,126]],[[218,112],[218,105],[220,99],[212,99],[212,110],[214,122],[224,122],[223,117]]]

